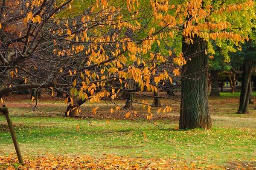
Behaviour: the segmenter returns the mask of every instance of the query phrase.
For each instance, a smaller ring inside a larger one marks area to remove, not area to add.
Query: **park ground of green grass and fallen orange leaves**
[[[71,162],[81,169],[256,169],[256,105],[250,105],[250,114],[236,114],[239,93],[209,98],[212,130],[177,130],[179,102],[175,100],[169,101],[174,103],[171,113],[157,114],[158,108],[153,108],[151,122],[133,115],[125,119],[125,112],[116,110],[111,114],[115,105],[107,101],[85,103],[80,118],[65,118],[64,102],[47,96],[40,98],[35,111],[28,96],[4,100],[25,168],[39,169],[44,162],[55,169],[77,169],[67,167]],[[96,116],[86,113],[95,107],[100,107]],[[146,118],[147,108],[134,108]],[[0,116],[0,169],[24,168],[13,153],[6,119]]]

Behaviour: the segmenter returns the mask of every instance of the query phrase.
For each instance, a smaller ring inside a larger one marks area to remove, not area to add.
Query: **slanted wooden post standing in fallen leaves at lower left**
[[[12,120],[10,118],[10,114],[9,114],[7,105],[3,105],[2,111],[3,111],[4,115],[6,116],[6,120],[7,120],[8,126],[9,126],[9,130],[10,130],[11,135],[12,135],[12,141],[13,141],[13,144],[14,144],[14,147],[15,147],[15,150],[16,150],[17,157],[19,159],[20,164],[23,165],[24,161],[23,161],[23,158],[22,158],[22,155],[21,155],[21,152],[20,152],[20,147],[19,147],[19,144],[17,142],[17,137],[15,135],[14,127],[13,127],[13,124],[12,124]]]

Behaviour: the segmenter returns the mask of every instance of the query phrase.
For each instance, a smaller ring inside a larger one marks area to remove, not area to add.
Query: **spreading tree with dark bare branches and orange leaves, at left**
[[[155,28],[150,9],[139,8],[136,0],[125,5],[97,0],[83,14],[61,17],[62,11],[72,8],[71,1],[3,1],[1,98],[20,89],[46,88],[52,96],[54,90],[69,89],[66,115],[77,116],[85,101],[113,100],[121,91],[144,87],[156,92],[160,82],[172,81],[172,70],[180,66],[167,59],[171,51],[156,53],[151,47],[162,44],[161,34],[175,27]],[[131,81],[136,88],[129,88]]]

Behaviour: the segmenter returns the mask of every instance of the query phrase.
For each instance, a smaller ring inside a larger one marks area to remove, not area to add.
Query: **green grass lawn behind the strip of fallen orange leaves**
[[[188,162],[203,161],[205,164],[217,165],[233,161],[256,161],[256,111],[251,109],[250,115],[234,114],[233,111],[238,107],[236,94],[221,95],[219,98],[210,98],[209,101],[212,130],[175,130],[178,122],[166,118],[154,120],[163,129],[140,119],[115,120],[103,117],[89,119],[89,122],[88,119],[64,118],[59,110],[63,110],[65,106],[49,101],[43,101],[38,106],[41,111],[49,112],[47,115],[38,111],[16,113],[19,109],[21,112],[29,110],[20,106],[21,108],[12,109],[11,116],[21,150],[26,156],[69,154],[101,158],[105,154],[129,155]],[[171,114],[178,114],[178,105],[173,106]],[[87,103],[84,107],[89,110],[92,105]],[[105,103],[106,110],[99,112],[107,112],[111,107]],[[109,124],[106,119],[109,119]],[[79,130],[76,129],[77,125]],[[0,116],[0,148],[0,154],[15,152],[3,116]]]

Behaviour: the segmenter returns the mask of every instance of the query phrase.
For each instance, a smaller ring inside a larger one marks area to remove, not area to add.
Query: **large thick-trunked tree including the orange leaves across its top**
[[[209,129],[212,126],[207,99],[208,63],[206,57],[208,50],[206,41],[231,40],[237,43],[247,38],[247,32],[244,34],[234,32],[232,24],[227,22],[226,19],[231,16],[231,13],[239,13],[243,9],[250,8],[249,11],[253,11],[251,10],[253,9],[253,1],[243,1],[241,4],[235,3],[234,1],[207,0],[189,0],[173,5],[169,5],[168,1],[153,3],[155,17],[163,18],[164,21],[159,24],[160,26],[180,23],[176,31],[180,32],[182,30],[182,52],[187,63],[183,66],[180,107],[181,129],[195,127]],[[169,6],[171,8],[168,11]],[[172,11],[172,9],[175,9],[175,11]],[[178,21],[175,20],[176,18],[178,18]],[[173,35],[174,33],[170,34]],[[194,49],[195,51],[193,51]],[[195,71],[198,71],[198,73]],[[193,82],[192,79],[198,81]]]

